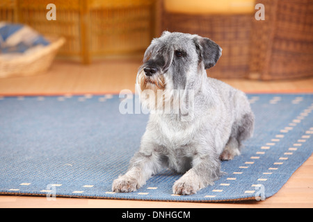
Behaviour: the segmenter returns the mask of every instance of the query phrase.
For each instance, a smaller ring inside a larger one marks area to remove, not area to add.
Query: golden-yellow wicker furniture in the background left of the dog
[[[2,2],[3,1],[3,2]],[[48,3],[56,21],[48,21]],[[81,58],[144,51],[154,37],[155,0],[1,0],[0,20],[28,24],[66,39],[59,55]]]

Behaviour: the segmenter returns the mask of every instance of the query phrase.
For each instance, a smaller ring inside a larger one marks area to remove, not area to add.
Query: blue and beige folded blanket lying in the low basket
[[[24,53],[33,46],[48,44],[45,37],[29,26],[0,22],[0,53]]]

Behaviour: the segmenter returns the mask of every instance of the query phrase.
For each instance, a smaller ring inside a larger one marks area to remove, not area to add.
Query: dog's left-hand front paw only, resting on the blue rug
[[[112,191],[118,193],[128,193],[136,191],[138,187],[138,181],[134,178],[127,176],[120,176],[118,179],[113,181]]]

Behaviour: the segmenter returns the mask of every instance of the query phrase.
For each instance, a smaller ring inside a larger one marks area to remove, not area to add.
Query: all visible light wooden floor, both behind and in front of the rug
[[[0,78],[0,96],[134,92],[140,60],[106,59],[84,66],[56,60],[46,74]],[[313,78],[261,82],[224,80],[244,92],[313,92]],[[0,196],[0,207],[313,207],[313,156],[271,198],[241,203],[175,203],[143,200]]]

